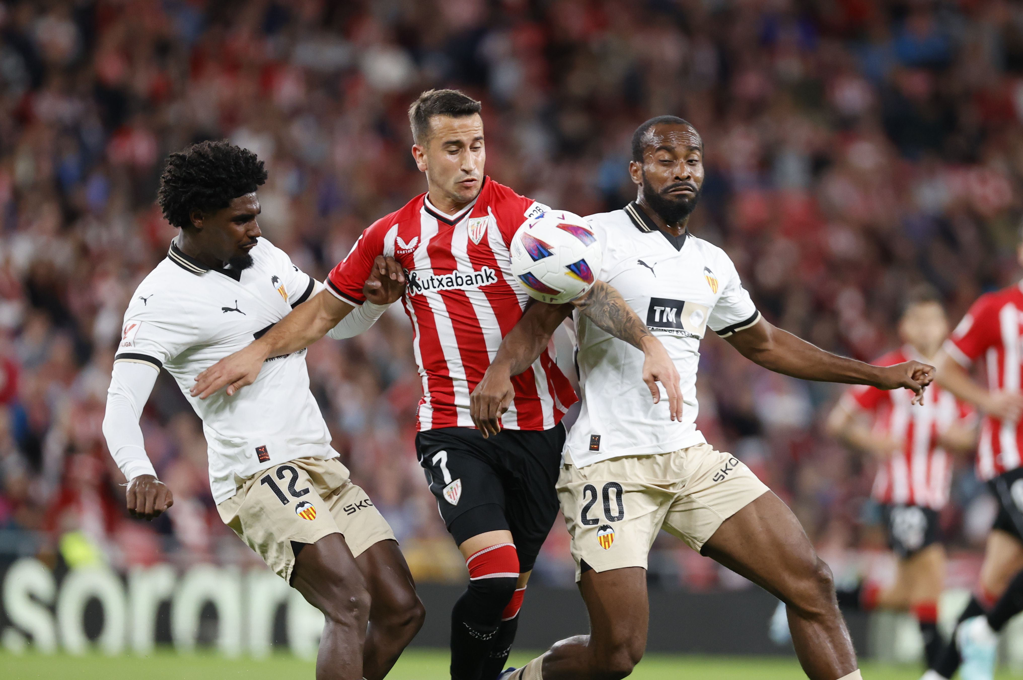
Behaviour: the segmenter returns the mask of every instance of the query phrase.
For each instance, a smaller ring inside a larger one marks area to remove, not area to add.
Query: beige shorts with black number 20
[[[647,569],[661,529],[699,551],[722,522],[767,490],[742,461],[709,444],[585,467],[566,454],[558,498],[572,535],[576,581],[583,560],[596,572]]]

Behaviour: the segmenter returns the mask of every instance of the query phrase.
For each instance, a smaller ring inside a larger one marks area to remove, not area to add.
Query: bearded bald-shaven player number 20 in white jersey
[[[565,446],[558,493],[590,632],[509,670],[501,676],[507,680],[628,676],[647,646],[647,558],[662,529],[788,604],[796,653],[811,679],[860,677],[831,571],[796,516],[696,426],[700,342],[715,332],[780,373],[908,388],[917,400],[933,368],[838,357],[765,320],[727,254],[687,230],[703,186],[703,140],[685,121],[647,121],[632,137],[636,199],[588,218],[604,246],[598,278],[646,320],[647,332],[664,343],[681,375],[682,417],[673,419],[663,403],[644,398],[639,353],[569,306],[527,310],[474,394],[478,426],[495,432],[508,381],[574,315],[582,409]]]

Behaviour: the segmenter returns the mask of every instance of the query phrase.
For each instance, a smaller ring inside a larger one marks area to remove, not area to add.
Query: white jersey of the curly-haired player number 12
[[[265,238],[250,255],[249,269],[212,270],[172,242],[132,296],[115,358],[166,368],[177,380],[203,419],[217,503],[261,469],[338,455],[309,391],[305,350],[268,359],[256,381],[233,397],[224,390],[206,400],[188,393],[196,375],[322,288]]]

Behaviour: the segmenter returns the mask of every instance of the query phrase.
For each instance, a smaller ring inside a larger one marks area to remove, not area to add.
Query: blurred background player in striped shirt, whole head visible
[[[948,335],[948,319],[930,286],[907,296],[899,320],[903,346],[874,363],[930,363]],[[828,419],[828,430],[873,454],[878,473],[873,497],[882,504],[888,543],[898,556],[895,582],[884,589],[866,583],[839,591],[839,604],[872,609],[909,610],[924,636],[927,664],[933,668],[942,648],[938,598],[944,585],[945,552],[938,513],[948,502],[953,453],[976,445],[974,410],[947,390],[932,386],[927,400],[911,403],[905,390],[870,386],[849,390]]]

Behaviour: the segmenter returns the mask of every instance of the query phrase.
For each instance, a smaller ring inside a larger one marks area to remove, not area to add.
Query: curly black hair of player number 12
[[[191,226],[193,211],[214,212],[266,182],[263,162],[227,140],[192,144],[167,156],[157,202],[175,227]]]

